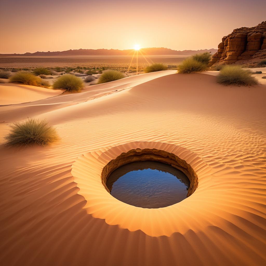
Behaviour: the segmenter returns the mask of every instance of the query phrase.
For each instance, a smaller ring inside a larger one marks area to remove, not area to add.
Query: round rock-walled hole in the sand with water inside
[[[190,196],[198,177],[186,161],[157,149],[132,149],[111,160],[102,184],[118,200],[142,208],[162,208]]]

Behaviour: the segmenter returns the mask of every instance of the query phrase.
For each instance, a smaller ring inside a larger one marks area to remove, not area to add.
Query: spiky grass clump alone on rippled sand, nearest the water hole
[[[5,137],[6,144],[45,146],[58,140],[58,135],[53,126],[49,126],[46,120],[29,118],[23,122],[15,122],[11,126],[9,135]]]

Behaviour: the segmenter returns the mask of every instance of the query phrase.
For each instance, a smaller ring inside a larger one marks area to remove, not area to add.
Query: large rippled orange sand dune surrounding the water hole
[[[61,136],[45,148],[0,146],[3,265],[265,263],[266,86],[174,72],[0,107],[1,136],[28,116],[47,118]],[[157,211],[110,205],[90,171],[146,144],[177,146],[198,189]]]

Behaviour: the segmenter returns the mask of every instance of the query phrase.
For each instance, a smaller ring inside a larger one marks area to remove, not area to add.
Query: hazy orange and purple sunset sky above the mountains
[[[265,21],[265,10],[265,0],[8,0],[0,8],[0,53],[217,48],[235,28]]]

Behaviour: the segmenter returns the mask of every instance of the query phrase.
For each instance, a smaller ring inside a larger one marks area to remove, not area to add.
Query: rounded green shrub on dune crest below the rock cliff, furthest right
[[[252,72],[238,65],[224,66],[217,76],[217,82],[224,85],[255,85],[258,80],[252,76]]]

